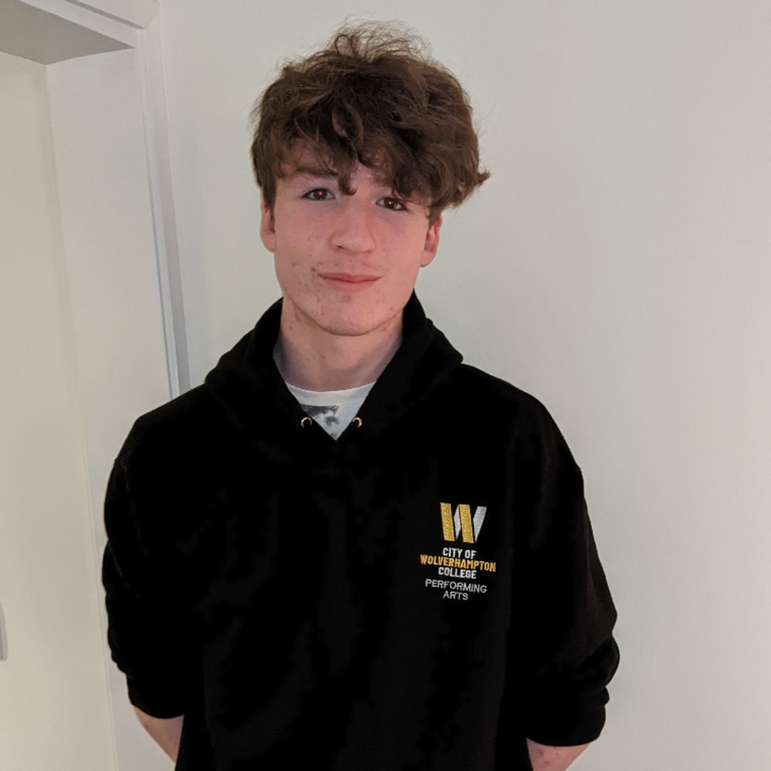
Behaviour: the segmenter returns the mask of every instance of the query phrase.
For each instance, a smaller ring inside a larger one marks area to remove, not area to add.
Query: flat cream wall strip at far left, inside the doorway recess
[[[0,53],[0,767],[115,769],[45,72]]]

